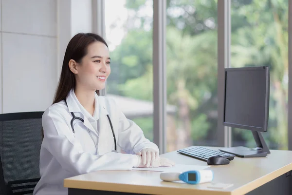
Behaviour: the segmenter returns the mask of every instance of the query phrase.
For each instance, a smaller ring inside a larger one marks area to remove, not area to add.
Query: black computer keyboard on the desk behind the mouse
[[[188,148],[178,150],[178,152],[183,155],[191,156],[204,161],[207,161],[210,156],[222,156],[224,158],[228,158],[229,160],[233,160],[235,157],[235,155],[232,154],[220,152],[217,150],[211,150],[201,146],[191,146]]]

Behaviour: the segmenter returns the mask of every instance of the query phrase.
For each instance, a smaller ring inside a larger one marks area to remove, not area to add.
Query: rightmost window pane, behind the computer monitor
[[[288,149],[288,0],[232,0],[231,66],[270,66],[270,115],[263,137]],[[256,147],[251,131],[234,129],[233,146]]]

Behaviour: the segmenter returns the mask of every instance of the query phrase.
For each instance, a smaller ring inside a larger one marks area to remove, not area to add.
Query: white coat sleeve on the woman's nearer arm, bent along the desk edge
[[[55,110],[47,110],[44,113],[42,125],[42,147],[48,150],[65,170],[75,175],[99,170],[131,170],[139,162],[136,155],[110,152],[98,156],[84,152],[80,142],[73,137],[65,118]]]

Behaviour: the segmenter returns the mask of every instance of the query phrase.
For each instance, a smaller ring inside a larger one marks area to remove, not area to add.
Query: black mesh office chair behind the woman
[[[43,112],[0,114],[0,195],[29,195],[39,180]]]

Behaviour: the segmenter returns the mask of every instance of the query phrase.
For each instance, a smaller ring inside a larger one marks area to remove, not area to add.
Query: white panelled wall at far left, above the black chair
[[[58,80],[57,0],[0,5],[0,112],[44,111]]]

